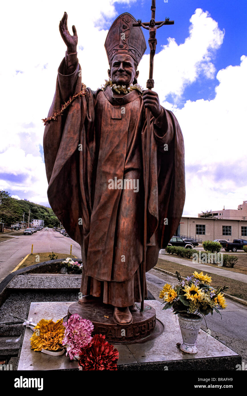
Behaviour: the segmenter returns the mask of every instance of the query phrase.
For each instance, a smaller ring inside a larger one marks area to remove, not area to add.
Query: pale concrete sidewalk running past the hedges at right
[[[184,260],[181,259],[180,257],[176,257],[170,254],[159,254],[159,259],[172,261],[173,263],[178,263],[181,265],[186,265],[186,267],[197,268],[199,270],[197,272],[201,272],[201,271],[205,273],[210,272],[211,274],[225,276],[225,278],[230,278],[230,279],[238,280],[239,282],[247,283],[247,275],[241,274],[239,272],[224,270],[222,267],[218,267],[217,265],[215,265],[215,267],[211,267],[210,265],[206,265],[206,264],[197,264],[197,263],[193,263],[192,261]]]

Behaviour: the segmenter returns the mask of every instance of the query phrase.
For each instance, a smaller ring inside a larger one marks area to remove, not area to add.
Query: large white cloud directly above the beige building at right
[[[174,110],[186,153],[184,213],[237,209],[246,200],[247,56],[217,74],[213,100],[187,101]]]

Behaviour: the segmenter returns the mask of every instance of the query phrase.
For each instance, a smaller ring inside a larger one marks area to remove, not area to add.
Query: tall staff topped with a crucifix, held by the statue
[[[163,25],[174,25],[174,21],[165,18],[165,21],[155,22],[155,0],[151,4],[151,20],[144,22],[138,19],[138,23],[133,23],[133,26],[142,26],[144,29],[149,30],[149,48],[150,48],[150,61],[149,61],[149,78],[147,80],[147,88],[154,87],[153,81],[153,58],[156,51],[156,30]],[[157,26],[157,27],[156,27]],[[145,287],[146,287],[146,251],[147,251],[147,199],[148,199],[148,176],[149,176],[149,149],[150,149],[150,109],[146,108],[147,119],[147,136],[146,136],[146,158],[145,158],[145,183],[144,183],[144,243],[143,243],[143,259],[142,259],[142,303],[141,311],[144,311]]]

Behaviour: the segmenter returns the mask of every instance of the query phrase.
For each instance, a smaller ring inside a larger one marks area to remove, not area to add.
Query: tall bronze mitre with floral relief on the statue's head
[[[137,23],[136,19],[125,12],[111,25],[105,39],[105,50],[108,62],[112,61],[114,55],[118,53],[127,53],[139,64],[144,52],[146,51],[146,41],[142,29],[132,24]]]

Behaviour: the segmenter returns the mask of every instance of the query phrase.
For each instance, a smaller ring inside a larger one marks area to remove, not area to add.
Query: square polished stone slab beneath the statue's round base
[[[232,370],[241,365],[241,357],[220,343],[205,331],[200,330],[197,337],[198,352],[194,355],[184,353],[177,348],[182,343],[182,335],[178,320],[170,310],[162,310],[160,301],[145,301],[156,310],[158,319],[164,324],[165,330],[155,339],[145,343],[113,344],[119,351],[118,370]],[[46,302],[31,303],[28,317],[34,322],[40,319],[61,319],[67,315],[73,303]],[[146,312],[146,311],[144,311]],[[157,326],[155,326],[155,329]],[[78,370],[78,362],[69,361],[65,354],[49,356],[42,352],[34,352],[30,346],[31,329],[25,329],[21,348],[18,370]],[[229,376],[229,375],[228,375]]]

